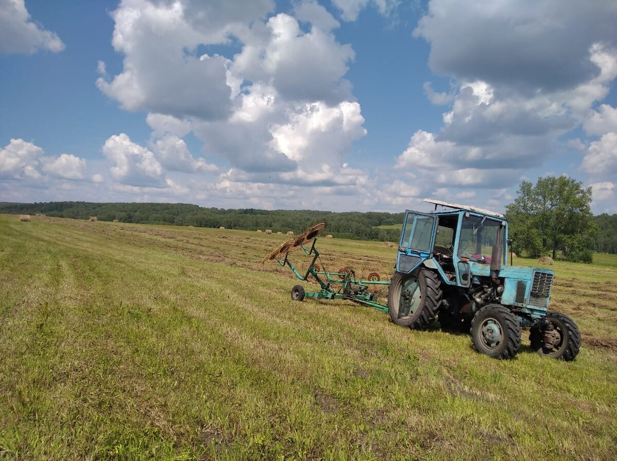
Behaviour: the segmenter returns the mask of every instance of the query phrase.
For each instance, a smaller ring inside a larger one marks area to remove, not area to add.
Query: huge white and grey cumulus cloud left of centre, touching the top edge
[[[126,110],[149,112],[164,170],[216,171],[188,152],[181,138],[192,133],[206,157],[224,159],[242,181],[304,184],[310,172],[321,182],[352,181],[336,172],[366,134],[344,78],[354,51],[336,40],[338,22],[317,1],[294,2],[297,17],[267,17],[273,6],[123,0],[113,12],[123,71],[97,84]],[[231,41],[240,46],[233,56],[197,55],[199,46]]]

